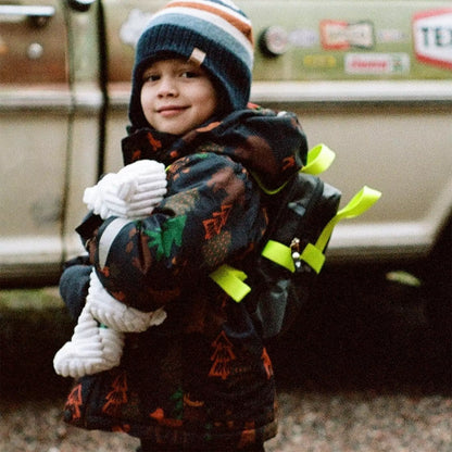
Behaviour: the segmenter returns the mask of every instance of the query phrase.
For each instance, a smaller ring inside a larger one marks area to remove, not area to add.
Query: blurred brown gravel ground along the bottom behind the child
[[[416,389],[281,390],[281,425],[267,452],[450,452],[452,397]],[[2,452],[128,452],[138,440],[61,420],[62,399],[0,403]]]

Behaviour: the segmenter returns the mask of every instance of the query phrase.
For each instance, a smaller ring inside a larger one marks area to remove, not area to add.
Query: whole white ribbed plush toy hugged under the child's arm
[[[87,188],[84,202],[103,219],[109,216],[138,219],[149,216],[165,193],[164,165],[139,160]],[[56,374],[73,378],[115,367],[123,354],[125,332],[142,332],[165,318],[163,307],[145,313],[114,299],[93,269],[74,334],[55,354],[53,367]]]

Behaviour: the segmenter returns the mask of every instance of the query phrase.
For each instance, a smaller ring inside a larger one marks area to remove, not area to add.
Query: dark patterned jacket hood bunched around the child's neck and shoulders
[[[240,162],[265,188],[275,189],[305,163],[307,142],[293,113],[268,109],[240,110],[211,121],[183,137],[153,129],[129,129],[123,140],[124,163],[140,159],[165,165],[197,152],[225,154]]]

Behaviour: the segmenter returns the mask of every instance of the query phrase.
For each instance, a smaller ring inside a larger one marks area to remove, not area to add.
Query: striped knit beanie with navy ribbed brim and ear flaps
[[[150,20],[137,43],[129,118],[149,126],[141,109],[142,74],[152,61],[181,56],[205,68],[218,89],[222,113],[246,108],[251,88],[251,22],[230,0],[173,0]]]

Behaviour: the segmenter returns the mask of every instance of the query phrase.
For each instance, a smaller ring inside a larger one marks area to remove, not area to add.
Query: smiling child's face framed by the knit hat
[[[209,120],[216,106],[208,73],[190,61],[156,61],[143,73],[141,108],[156,130],[184,135]]]

